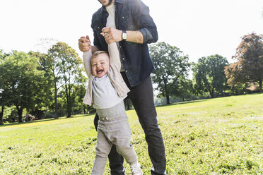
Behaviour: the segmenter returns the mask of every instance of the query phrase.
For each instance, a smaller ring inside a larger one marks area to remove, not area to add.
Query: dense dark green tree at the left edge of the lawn
[[[5,103],[16,106],[18,122],[22,122],[23,109],[35,106],[37,97],[43,95],[44,72],[39,70],[38,61],[35,56],[13,51],[0,64],[0,86],[8,97]]]

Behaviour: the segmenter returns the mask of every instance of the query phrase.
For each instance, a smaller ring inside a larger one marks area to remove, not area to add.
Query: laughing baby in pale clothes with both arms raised
[[[112,145],[126,159],[131,167],[131,174],[142,175],[136,153],[131,145],[131,131],[125,112],[123,99],[129,88],[119,72],[121,64],[116,43],[109,44],[110,56],[105,51],[91,54],[91,49],[83,54],[83,63],[89,83],[83,102],[95,107],[98,116],[97,145],[92,175],[103,175],[107,155]]]

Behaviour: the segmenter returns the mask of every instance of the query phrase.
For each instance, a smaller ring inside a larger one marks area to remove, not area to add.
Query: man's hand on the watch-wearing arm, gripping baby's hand
[[[117,30],[115,28],[103,28],[100,34],[103,35],[107,44],[122,41],[122,30]]]

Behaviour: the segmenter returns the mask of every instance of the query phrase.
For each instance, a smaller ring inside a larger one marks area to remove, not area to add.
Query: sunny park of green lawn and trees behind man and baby
[[[263,174],[262,40],[245,35],[232,64],[218,54],[192,64],[177,47],[151,45],[167,174]],[[0,174],[90,174],[95,110],[82,103],[87,78],[74,49],[57,42],[47,54],[1,52],[0,71]],[[124,102],[131,144],[151,174],[144,132]]]

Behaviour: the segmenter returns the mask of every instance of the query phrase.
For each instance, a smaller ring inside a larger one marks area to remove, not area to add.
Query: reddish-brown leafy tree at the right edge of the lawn
[[[238,83],[257,83],[259,91],[263,92],[263,35],[252,32],[243,36],[232,58],[237,62],[225,69],[228,84],[233,86]]]

